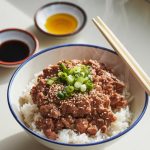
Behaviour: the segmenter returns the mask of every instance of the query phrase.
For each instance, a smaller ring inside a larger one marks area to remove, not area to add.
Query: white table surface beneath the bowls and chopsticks
[[[74,37],[55,39],[38,31],[33,22],[37,8],[52,0],[0,0],[0,30],[17,27],[34,33],[40,49],[64,43],[88,43],[110,48],[91,18],[99,15],[150,76],[150,3],[145,0],[72,0],[85,9],[88,22]],[[71,1],[71,0],[65,0]],[[48,150],[17,124],[7,105],[7,85],[15,69],[0,68],[0,150]],[[150,104],[140,123],[107,150],[150,148]]]

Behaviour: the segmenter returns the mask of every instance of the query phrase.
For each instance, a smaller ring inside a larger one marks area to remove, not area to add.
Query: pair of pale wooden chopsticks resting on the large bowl
[[[125,46],[119,41],[119,39],[113,34],[113,32],[107,27],[107,25],[102,21],[100,17],[93,18],[94,24],[104,35],[108,43],[112,48],[118,53],[118,55],[123,59],[123,61],[128,65],[130,71],[134,77],[139,81],[144,90],[150,95],[150,78],[142,70],[139,64],[135,61],[129,51]]]

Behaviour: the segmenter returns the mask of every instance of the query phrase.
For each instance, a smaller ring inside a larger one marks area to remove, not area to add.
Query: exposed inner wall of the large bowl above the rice
[[[134,97],[134,100],[131,102],[131,111],[133,112],[132,125],[140,118],[145,106],[145,92],[120,57],[108,50],[95,46],[68,45],[57,47],[54,50],[47,49],[34,55],[13,76],[8,90],[8,101],[13,115],[22,126],[25,127],[20,117],[18,99],[22,95],[23,90],[34,78],[35,73],[40,72],[49,64],[55,64],[63,59],[96,59],[112,67],[116,74],[119,75],[119,78],[124,80],[129,86],[129,90]]]

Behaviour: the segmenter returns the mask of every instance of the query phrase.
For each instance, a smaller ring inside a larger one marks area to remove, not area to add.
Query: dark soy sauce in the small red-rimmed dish
[[[19,40],[9,40],[0,45],[0,61],[15,62],[29,56],[29,47]]]

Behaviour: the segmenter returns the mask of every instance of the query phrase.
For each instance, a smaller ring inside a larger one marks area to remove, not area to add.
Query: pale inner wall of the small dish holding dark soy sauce
[[[9,40],[19,40],[26,43],[30,50],[29,55],[32,54],[36,48],[36,43],[33,37],[27,32],[21,30],[5,30],[0,33],[0,40],[2,43]]]

